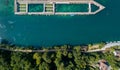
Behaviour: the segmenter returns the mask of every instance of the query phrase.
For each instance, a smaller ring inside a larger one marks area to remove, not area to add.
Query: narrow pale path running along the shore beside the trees
[[[120,41],[117,41],[117,42],[110,42],[110,43],[107,43],[103,48],[101,49],[96,49],[96,50],[88,50],[86,52],[99,52],[99,51],[104,51],[106,50],[107,48],[111,48],[113,46],[120,46]],[[50,50],[21,50],[21,49],[7,49],[7,48],[0,48],[0,50],[5,50],[5,51],[11,51],[11,52],[56,52],[58,50],[56,49],[50,49]],[[66,49],[59,49],[60,51],[64,51]],[[67,51],[73,51],[73,50],[70,50],[68,49]],[[82,51],[81,51],[82,52]]]

